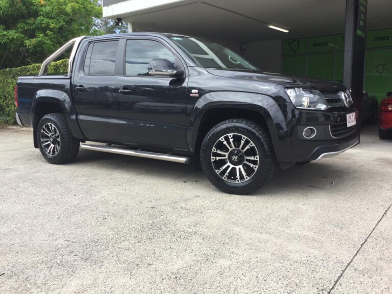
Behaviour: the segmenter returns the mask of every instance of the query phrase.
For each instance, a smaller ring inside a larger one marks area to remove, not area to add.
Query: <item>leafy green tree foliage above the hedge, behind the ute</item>
[[[0,69],[40,63],[68,40],[102,34],[98,0],[0,0]]]

